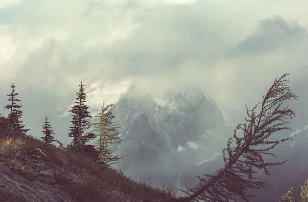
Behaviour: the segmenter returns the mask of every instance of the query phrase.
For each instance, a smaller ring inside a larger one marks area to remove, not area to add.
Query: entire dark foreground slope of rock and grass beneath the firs
[[[0,201],[169,201],[168,190],[133,181],[84,152],[59,148],[0,119]]]

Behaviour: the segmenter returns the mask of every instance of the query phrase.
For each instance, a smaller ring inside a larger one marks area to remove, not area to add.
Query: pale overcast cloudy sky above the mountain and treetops
[[[243,108],[285,72],[307,97],[307,7],[306,0],[1,0],[0,104],[14,82],[25,110],[41,106],[24,117],[38,119],[43,108],[70,101],[81,80],[132,79],[155,95],[194,84],[221,106]]]

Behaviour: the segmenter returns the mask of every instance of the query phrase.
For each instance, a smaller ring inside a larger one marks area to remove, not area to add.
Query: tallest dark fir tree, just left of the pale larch
[[[84,85],[79,85],[79,92],[76,93],[77,99],[76,104],[72,107],[69,112],[73,113],[72,126],[70,127],[70,132],[68,133],[69,137],[72,137],[73,145],[85,145],[86,142],[95,138],[93,132],[89,132],[88,130],[91,128],[90,119],[92,116],[88,111],[89,107],[85,105],[86,101],[86,93],[84,91]]]

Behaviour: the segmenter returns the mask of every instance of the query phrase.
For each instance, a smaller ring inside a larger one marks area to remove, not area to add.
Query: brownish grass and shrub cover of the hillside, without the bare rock
[[[40,165],[53,168],[55,182],[51,185],[63,187],[74,201],[113,201],[115,195],[121,195],[127,201],[144,202],[170,201],[174,198],[174,194],[165,187],[133,181],[80,152],[59,148],[5,127],[3,120],[5,118],[2,118],[2,124],[0,120],[0,154],[5,159],[5,166],[31,183],[39,180],[51,184],[47,179],[37,179],[33,175],[35,171],[42,170],[37,166],[38,161]],[[12,193],[3,186],[0,186],[0,200],[26,201],[22,194]]]

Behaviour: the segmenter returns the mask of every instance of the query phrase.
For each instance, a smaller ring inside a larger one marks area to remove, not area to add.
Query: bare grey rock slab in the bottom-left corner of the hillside
[[[55,184],[55,177],[51,173],[52,166],[44,165],[43,168],[40,161],[31,161],[37,167],[42,166],[42,170],[28,170],[25,175],[20,168],[8,168],[7,158],[0,157],[1,192],[21,195],[23,201],[74,201],[61,186]]]

